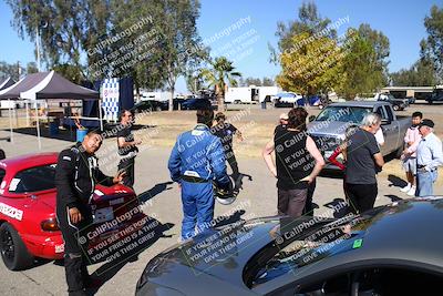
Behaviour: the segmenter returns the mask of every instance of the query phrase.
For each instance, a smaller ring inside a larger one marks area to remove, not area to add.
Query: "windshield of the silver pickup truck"
[[[371,109],[363,106],[328,106],[317,116],[316,121],[341,121],[359,124],[369,112]]]

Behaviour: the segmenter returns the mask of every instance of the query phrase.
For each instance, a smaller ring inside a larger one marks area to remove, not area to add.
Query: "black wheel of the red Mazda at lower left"
[[[9,223],[0,226],[0,249],[3,263],[10,271],[22,271],[33,263],[32,255]]]

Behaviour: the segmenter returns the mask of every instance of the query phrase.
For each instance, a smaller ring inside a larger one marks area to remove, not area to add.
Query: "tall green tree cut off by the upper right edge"
[[[424,18],[427,38],[422,43],[422,51],[433,62],[439,83],[443,83],[443,8],[433,6],[430,16]]]

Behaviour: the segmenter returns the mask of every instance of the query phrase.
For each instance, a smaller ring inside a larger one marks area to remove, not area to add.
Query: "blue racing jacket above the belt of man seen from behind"
[[[168,169],[174,182],[178,182],[182,175],[215,180],[218,184],[229,182],[222,142],[204,124],[197,124],[194,130],[178,135]]]

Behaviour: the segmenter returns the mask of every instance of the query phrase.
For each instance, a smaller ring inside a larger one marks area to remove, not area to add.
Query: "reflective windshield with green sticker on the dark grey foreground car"
[[[293,237],[288,235],[293,232],[280,232],[274,244],[268,245],[260,252],[262,255],[255,258],[255,272],[246,278],[246,284],[256,287],[285,274],[297,273],[302,266],[361,247],[365,229],[380,211],[374,210],[362,216],[348,215],[326,225],[305,229]]]

